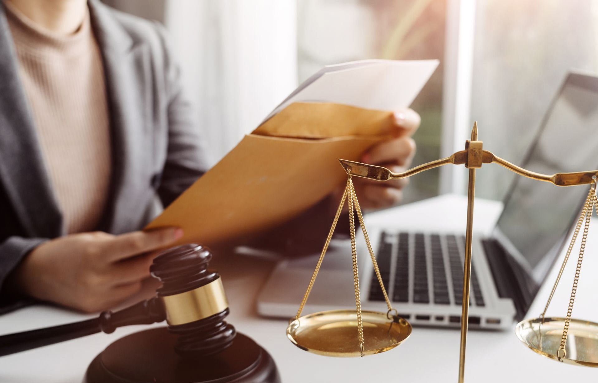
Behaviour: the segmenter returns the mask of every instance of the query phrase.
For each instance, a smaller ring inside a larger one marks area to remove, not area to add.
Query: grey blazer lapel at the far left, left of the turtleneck
[[[54,238],[63,233],[62,214],[45,168],[18,65],[0,2],[0,187],[4,187],[26,236]]]

